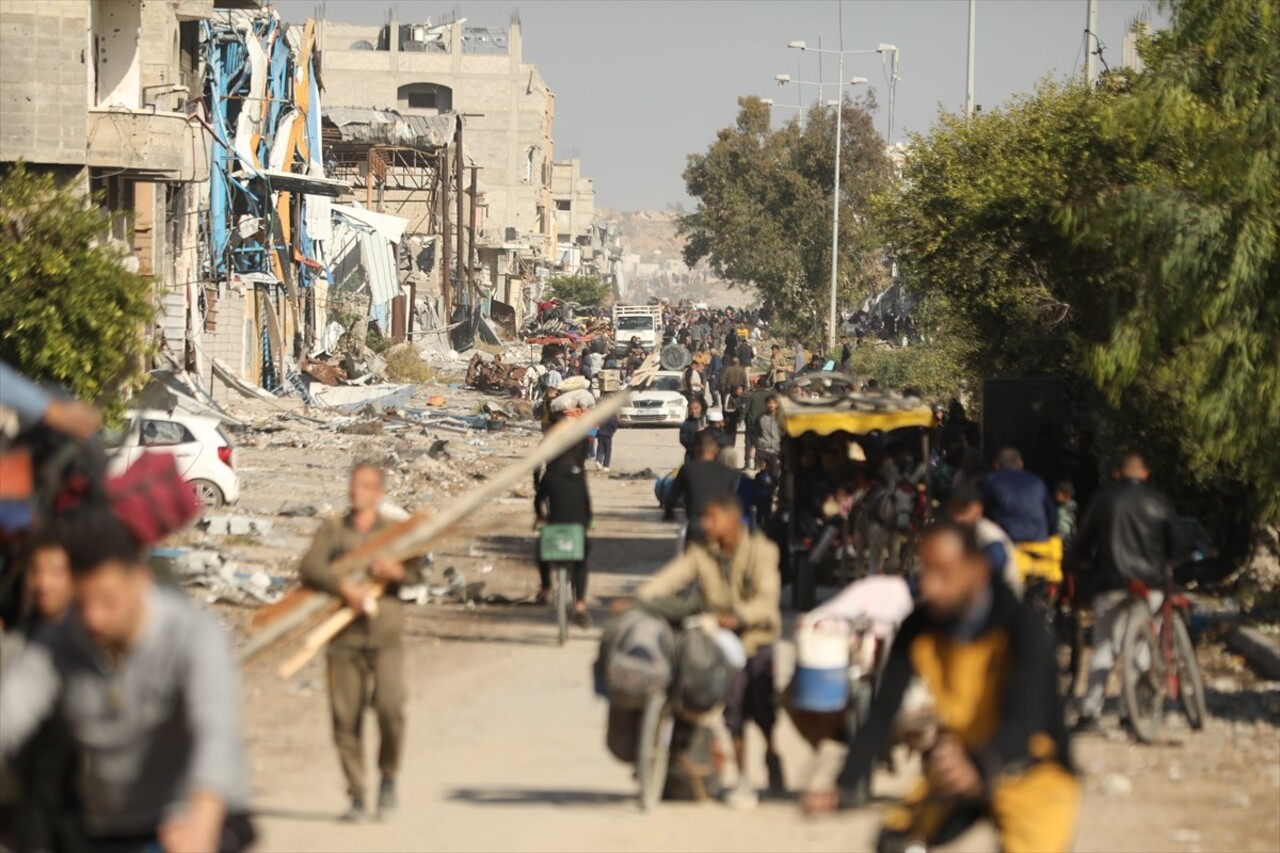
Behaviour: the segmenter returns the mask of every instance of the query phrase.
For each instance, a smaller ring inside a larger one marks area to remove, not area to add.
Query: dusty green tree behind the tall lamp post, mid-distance
[[[831,190],[836,114],[814,108],[774,131],[769,105],[739,99],[733,127],[689,158],[685,184],[699,200],[680,218],[685,263],[708,260],[723,278],[756,288],[783,330],[812,337],[826,327],[831,272]],[[882,242],[868,219],[870,197],[892,165],[872,124],[874,100],[844,104],[840,280],[845,300],[882,289]]]

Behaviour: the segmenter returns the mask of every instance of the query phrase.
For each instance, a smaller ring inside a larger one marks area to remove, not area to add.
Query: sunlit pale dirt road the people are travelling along
[[[591,473],[598,514],[593,596],[625,593],[672,552],[675,528],[660,523],[652,479],[620,473],[669,467],[677,451],[673,432],[623,430],[613,475]],[[436,576],[454,565],[468,580],[485,580],[486,592],[531,596],[531,520],[527,500],[490,505],[468,532],[436,549]],[[596,616],[599,621],[603,613]],[[334,820],[346,799],[323,665],[314,662],[291,684],[276,681],[266,667],[247,675],[261,849],[869,849],[881,806],[822,821],[804,820],[794,802],[764,802],[750,812],[716,803],[663,804],[641,816],[630,768],[604,749],[604,706],[590,685],[598,629],[577,631],[559,648],[544,608],[424,606],[413,608],[410,634],[401,811],[385,822],[346,826]],[[1280,847],[1280,690],[1215,661],[1207,661],[1221,665],[1207,679],[1215,685],[1211,710],[1225,719],[1215,719],[1207,731],[1171,729],[1169,744],[1149,748],[1105,736],[1078,743],[1087,788],[1078,849]],[[372,756],[372,719],[367,731]],[[788,727],[782,745],[796,786],[808,751]],[[878,793],[901,790],[911,772],[877,780]],[[992,849],[992,836],[978,831],[963,847]]]

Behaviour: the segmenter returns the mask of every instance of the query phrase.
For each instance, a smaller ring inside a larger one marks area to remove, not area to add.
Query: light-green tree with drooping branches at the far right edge
[[[1087,352],[1114,405],[1176,414],[1187,473],[1280,521],[1280,6],[1166,3],[1147,72],[1103,132],[1146,168],[1061,220],[1110,263]]]

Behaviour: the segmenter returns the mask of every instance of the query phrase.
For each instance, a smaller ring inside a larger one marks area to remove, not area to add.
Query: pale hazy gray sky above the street
[[[278,0],[291,23],[314,15],[316,0]],[[595,178],[596,205],[625,210],[689,205],[681,172],[737,113],[740,95],[797,104],[795,86],[778,73],[818,81],[818,55],[787,50],[836,47],[840,0],[326,0],[333,20],[380,23],[394,6],[402,23],[457,12],[471,24],[506,26],[518,8],[525,61],[539,65],[556,92],[556,159],[579,156]],[[1149,0],[1101,0],[1098,36],[1103,59],[1120,64],[1128,22]],[[1079,72],[1084,63],[1085,0],[978,0],[974,100],[996,106],[1046,74]],[[964,106],[966,0],[844,0],[845,49],[882,42],[901,51],[895,140],[928,131],[940,108]],[[836,58],[822,58],[833,83]],[[867,77],[886,129],[886,76],[881,58],[850,56],[846,79]],[[860,87],[859,87],[860,88]],[[804,100],[817,99],[815,87]],[[835,97],[828,86],[827,97]],[[776,108],[782,122],[795,110]]]

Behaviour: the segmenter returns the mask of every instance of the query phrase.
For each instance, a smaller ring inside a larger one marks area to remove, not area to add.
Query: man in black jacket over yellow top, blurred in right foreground
[[[972,528],[943,520],[920,538],[922,603],[902,622],[870,716],[850,744],[840,790],[869,777],[913,679],[933,698],[924,779],[884,816],[878,850],[946,844],[988,816],[1004,850],[1065,850],[1080,784],[1071,766],[1043,624],[991,564]],[[840,794],[806,798],[828,811]]]

